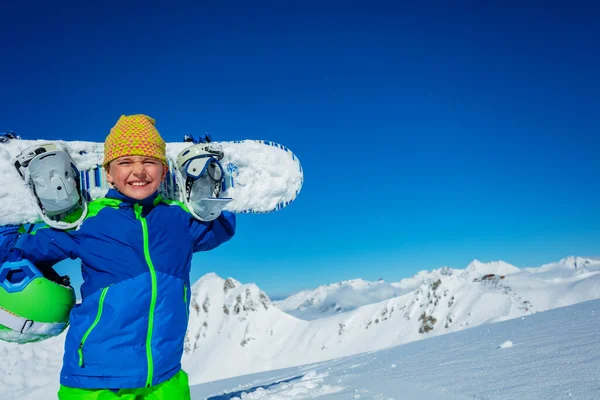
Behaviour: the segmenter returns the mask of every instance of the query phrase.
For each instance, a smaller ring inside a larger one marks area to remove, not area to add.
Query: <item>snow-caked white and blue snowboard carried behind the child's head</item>
[[[101,164],[104,144],[86,141],[8,140],[0,144],[0,225],[35,223],[35,199],[15,168],[24,149],[44,143],[63,146],[80,173],[80,188],[87,201],[103,197],[110,188]],[[233,199],[225,210],[234,213],[269,213],[291,204],[302,188],[302,165],[291,150],[267,140],[211,142],[220,145],[224,179],[220,197]],[[170,200],[180,200],[175,159],[189,142],[167,143],[169,173],[159,189]]]

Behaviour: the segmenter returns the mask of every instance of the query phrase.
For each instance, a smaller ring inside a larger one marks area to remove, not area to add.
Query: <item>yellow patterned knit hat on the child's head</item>
[[[104,141],[104,168],[124,156],[154,157],[167,164],[166,144],[154,123],[144,114],[121,115]]]

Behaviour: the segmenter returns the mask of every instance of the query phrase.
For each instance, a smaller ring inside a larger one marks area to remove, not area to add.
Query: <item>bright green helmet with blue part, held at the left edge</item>
[[[29,260],[0,266],[0,340],[49,339],[69,325],[75,292],[44,276]]]

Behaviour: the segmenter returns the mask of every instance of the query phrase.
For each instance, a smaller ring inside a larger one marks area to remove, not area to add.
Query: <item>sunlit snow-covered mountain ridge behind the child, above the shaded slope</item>
[[[254,284],[207,274],[192,287],[183,366],[197,384],[323,362],[600,298],[600,262],[553,265],[519,269],[473,262],[462,270],[444,267],[389,285],[348,281],[357,298],[375,302],[355,302],[349,311],[313,320],[282,311]],[[360,290],[371,293],[374,287],[395,288],[400,295],[383,301],[361,296]],[[5,360],[0,393],[29,395],[57,381],[63,340],[0,343]]]

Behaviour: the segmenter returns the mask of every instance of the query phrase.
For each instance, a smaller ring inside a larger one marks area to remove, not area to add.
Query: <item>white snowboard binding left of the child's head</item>
[[[36,198],[42,220],[57,229],[76,228],[87,215],[81,196],[79,171],[69,153],[56,144],[45,143],[23,150],[15,168]],[[81,212],[78,217],[77,212]]]

